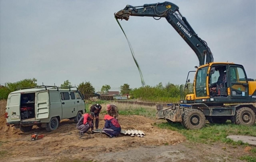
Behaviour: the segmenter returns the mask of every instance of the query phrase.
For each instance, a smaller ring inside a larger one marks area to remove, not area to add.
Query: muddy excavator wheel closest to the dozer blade
[[[205,115],[197,109],[188,109],[181,115],[182,125],[187,129],[201,129],[205,125]]]

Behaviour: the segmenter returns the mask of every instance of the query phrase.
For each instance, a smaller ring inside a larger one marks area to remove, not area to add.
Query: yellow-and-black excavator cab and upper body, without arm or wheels
[[[211,62],[197,68],[194,94],[186,95],[181,103],[240,103],[252,100],[255,82],[247,78],[242,65]],[[251,87],[252,89],[249,89]]]

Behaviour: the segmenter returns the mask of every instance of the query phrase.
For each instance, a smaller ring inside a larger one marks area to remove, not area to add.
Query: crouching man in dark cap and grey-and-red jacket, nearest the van
[[[79,130],[80,135],[87,133],[91,128],[93,129],[92,120],[95,118],[94,112],[84,114],[77,123],[77,129]]]

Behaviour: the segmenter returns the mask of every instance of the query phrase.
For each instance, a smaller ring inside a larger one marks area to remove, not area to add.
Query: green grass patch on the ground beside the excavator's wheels
[[[226,138],[228,135],[249,135],[256,137],[256,127],[247,127],[243,125],[235,125],[231,122],[225,124],[209,124],[199,130],[185,129],[180,123],[169,124],[168,122],[155,124],[162,129],[170,129],[183,134],[187,140],[196,143],[212,144],[214,142],[230,143],[232,145],[248,145],[242,141],[233,141]]]

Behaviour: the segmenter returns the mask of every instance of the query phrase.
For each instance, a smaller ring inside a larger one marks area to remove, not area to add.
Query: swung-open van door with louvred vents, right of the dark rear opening
[[[36,92],[36,119],[49,118],[49,91]]]

